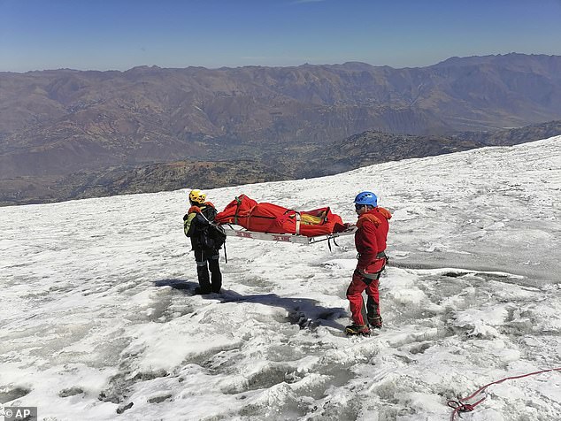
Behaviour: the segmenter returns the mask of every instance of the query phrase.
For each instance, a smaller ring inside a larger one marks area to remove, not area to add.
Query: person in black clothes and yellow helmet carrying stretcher
[[[219,249],[210,233],[211,222],[217,211],[214,205],[206,202],[206,195],[200,190],[189,193],[191,207],[183,217],[183,230],[191,239],[195,251],[196,274],[199,280],[197,294],[219,293],[222,287],[222,273],[219,266]],[[211,276],[209,277],[209,269]]]

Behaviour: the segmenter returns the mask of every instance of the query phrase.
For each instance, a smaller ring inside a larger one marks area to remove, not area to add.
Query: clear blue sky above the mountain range
[[[561,0],[0,0],[0,71],[561,55]]]

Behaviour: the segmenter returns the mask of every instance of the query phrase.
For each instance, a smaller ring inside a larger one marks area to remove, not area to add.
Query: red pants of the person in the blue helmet
[[[362,299],[363,291],[366,291],[366,295],[368,295],[368,300],[366,301],[367,317],[380,317],[380,293],[378,292],[380,274],[381,271],[378,272],[378,279],[367,279],[362,276],[358,270],[355,270],[352,274],[352,280],[347,288],[347,299],[350,302],[350,312],[352,314],[352,321],[355,325],[366,324],[365,318],[363,318],[362,315],[364,306]]]

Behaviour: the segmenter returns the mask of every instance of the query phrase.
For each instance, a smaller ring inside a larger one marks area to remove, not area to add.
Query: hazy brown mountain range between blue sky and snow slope
[[[159,172],[210,187],[313,177],[326,160],[346,170],[472,149],[557,119],[558,56],[0,73],[0,203],[165,189],[150,182]]]

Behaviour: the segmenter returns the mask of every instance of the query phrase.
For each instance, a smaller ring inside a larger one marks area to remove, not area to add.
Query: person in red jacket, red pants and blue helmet
[[[355,197],[355,209],[358,215],[357,232],[355,233],[358,263],[347,288],[347,299],[350,302],[353,324],[345,328],[345,333],[369,334],[370,327],[380,329],[382,325],[378,286],[381,272],[384,271],[388,262],[385,250],[391,213],[378,206],[378,198],[372,192],[359,193]],[[368,295],[367,320],[364,319],[362,313],[363,291],[366,291],[366,295]]]

